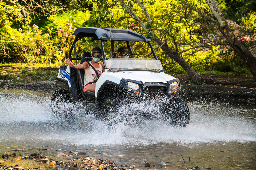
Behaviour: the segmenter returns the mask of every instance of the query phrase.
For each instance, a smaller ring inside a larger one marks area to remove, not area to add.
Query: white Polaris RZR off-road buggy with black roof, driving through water
[[[66,83],[67,89],[52,95],[50,105],[56,115],[70,116],[67,110],[60,109],[63,103],[80,103],[106,123],[142,118],[160,119],[174,126],[188,125],[187,103],[174,95],[181,83],[164,73],[149,38],[127,29],[108,28],[77,28],[73,35],[76,37],[69,59],[74,64],[91,61],[86,44],[97,45],[98,41],[106,69],[96,82],[94,93],[83,89],[84,69],[62,65],[56,79]],[[90,41],[86,41],[88,38]],[[124,45],[129,49],[129,58],[116,58],[116,50]],[[142,103],[143,108],[136,109]],[[146,109],[152,103],[157,110]]]

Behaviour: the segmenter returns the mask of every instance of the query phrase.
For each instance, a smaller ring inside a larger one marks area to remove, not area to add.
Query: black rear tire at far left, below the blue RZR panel
[[[60,89],[52,94],[50,108],[53,114],[57,118],[72,118],[73,114],[70,112],[70,96],[69,91],[65,89]],[[65,107],[64,107],[65,106]]]

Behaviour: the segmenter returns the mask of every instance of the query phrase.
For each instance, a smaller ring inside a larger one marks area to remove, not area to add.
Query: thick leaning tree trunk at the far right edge
[[[236,36],[232,33],[232,30],[228,27],[215,0],[207,0],[207,3],[218,22],[220,32],[226,40],[232,44],[234,51],[244,60],[256,80],[256,57],[237,40]]]

